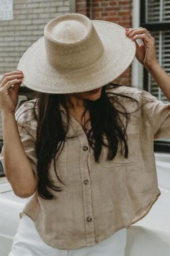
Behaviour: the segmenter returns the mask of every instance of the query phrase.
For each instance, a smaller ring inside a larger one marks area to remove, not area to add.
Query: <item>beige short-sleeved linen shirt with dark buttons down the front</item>
[[[57,160],[57,172],[66,186],[59,183],[52,163],[49,178],[63,191],[56,192],[49,188],[54,198],[45,200],[36,190],[20,213],[20,217],[25,213],[33,220],[42,240],[54,248],[71,250],[95,245],[145,217],[160,196],[154,139],[170,137],[170,104],[163,104],[145,90],[128,86],[114,88],[112,92],[128,94],[136,98],[139,105],[146,103],[130,115],[129,158],[121,155],[119,145],[116,157],[106,160],[107,147],[103,146],[100,163],[96,163],[82,126],[71,117],[67,136],[76,137],[66,140]],[[128,112],[137,108],[135,102],[126,98],[120,98],[120,101]],[[120,109],[117,103],[114,105]],[[16,111],[15,117],[18,118],[25,152],[37,175],[37,123],[32,107],[29,101],[25,102]],[[23,113],[25,109],[28,111]],[[63,108],[61,113],[65,123]],[[3,161],[3,149],[0,156]]]

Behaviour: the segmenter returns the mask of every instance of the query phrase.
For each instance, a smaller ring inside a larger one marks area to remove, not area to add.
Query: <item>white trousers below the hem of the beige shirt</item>
[[[24,214],[8,256],[125,256],[126,228],[92,246],[75,250],[60,250],[46,245],[37,232],[34,222]]]

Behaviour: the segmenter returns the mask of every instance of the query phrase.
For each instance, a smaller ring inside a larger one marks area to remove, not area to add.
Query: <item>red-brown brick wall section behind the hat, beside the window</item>
[[[107,20],[123,27],[131,27],[131,8],[132,0],[93,0],[91,19]],[[90,0],[76,0],[76,12],[90,18]],[[131,85],[131,65],[114,82]]]

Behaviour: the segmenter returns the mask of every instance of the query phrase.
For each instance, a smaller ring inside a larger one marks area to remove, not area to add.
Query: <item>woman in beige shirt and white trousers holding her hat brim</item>
[[[137,59],[169,99],[145,28],[125,35],[80,14],[50,21],[20,60],[23,73],[2,77],[1,160],[15,194],[29,197],[10,256],[123,256],[126,228],[158,199],[153,141],[170,137],[170,104],[111,82],[137,38]],[[39,94],[15,112],[21,82]]]

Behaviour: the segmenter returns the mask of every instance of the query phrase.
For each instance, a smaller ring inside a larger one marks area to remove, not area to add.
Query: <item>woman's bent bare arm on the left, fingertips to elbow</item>
[[[22,82],[19,72],[3,75],[0,81],[0,107],[3,128],[3,163],[5,175],[14,193],[19,197],[29,197],[37,188],[37,177],[25,154],[15,120],[15,108],[18,104],[18,89]],[[13,85],[12,89],[10,86]],[[2,156],[2,153],[1,153]]]

